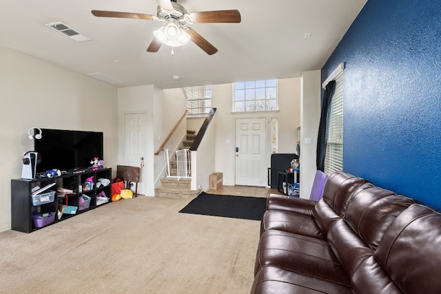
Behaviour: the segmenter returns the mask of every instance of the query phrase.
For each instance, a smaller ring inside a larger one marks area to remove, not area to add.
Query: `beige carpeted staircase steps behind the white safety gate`
[[[179,149],[189,149],[196,137],[195,133],[195,131],[187,130],[187,137],[183,140],[182,146],[179,147]],[[177,176],[176,154],[174,155],[174,158],[175,160],[170,161],[171,176]],[[201,189],[192,191],[191,182],[192,179],[190,178],[161,178],[161,187],[154,189],[154,194],[156,197],[193,199],[201,193]]]

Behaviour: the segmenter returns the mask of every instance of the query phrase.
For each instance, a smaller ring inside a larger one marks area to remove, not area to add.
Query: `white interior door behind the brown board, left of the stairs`
[[[124,165],[140,167],[141,158],[145,158],[145,113],[124,114]],[[147,180],[140,173],[141,182],[138,184],[138,193],[147,191],[144,187]]]

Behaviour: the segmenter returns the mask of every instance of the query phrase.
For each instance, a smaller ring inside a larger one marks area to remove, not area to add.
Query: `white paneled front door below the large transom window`
[[[236,119],[236,185],[267,185],[265,121],[265,118]]]

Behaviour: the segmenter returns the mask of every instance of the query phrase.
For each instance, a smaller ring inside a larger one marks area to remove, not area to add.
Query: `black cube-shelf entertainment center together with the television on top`
[[[103,133],[42,129],[34,140],[41,160],[34,179],[11,180],[11,229],[30,233],[111,202],[112,169],[103,160]],[[58,169],[60,174],[46,176]]]

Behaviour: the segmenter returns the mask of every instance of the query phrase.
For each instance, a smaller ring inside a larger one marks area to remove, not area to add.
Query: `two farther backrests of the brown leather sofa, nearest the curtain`
[[[352,277],[360,264],[373,256],[389,225],[413,203],[410,198],[339,172],[329,176],[313,215]]]

